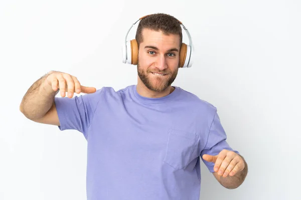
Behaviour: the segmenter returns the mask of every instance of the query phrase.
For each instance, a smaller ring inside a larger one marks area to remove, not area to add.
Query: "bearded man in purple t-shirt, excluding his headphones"
[[[50,71],[29,88],[20,110],[33,121],[83,133],[87,199],[197,200],[200,157],[223,186],[238,187],[247,164],[226,142],[216,107],[172,86],[182,45],[179,21],[148,15],[136,41],[136,85],[96,89]],[[55,97],[59,91],[62,97]]]

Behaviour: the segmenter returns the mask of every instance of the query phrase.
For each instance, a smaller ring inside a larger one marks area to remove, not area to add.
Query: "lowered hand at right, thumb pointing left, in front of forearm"
[[[245,164],[243,158],[234,151],[223,149],[218,155],[203,155],[204,160],[214,162],[214,171],[218,175],[227,177],[235,175],[238,171],[244,169]]]

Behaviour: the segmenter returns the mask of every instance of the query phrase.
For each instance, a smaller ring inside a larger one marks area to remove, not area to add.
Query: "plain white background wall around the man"
[[[135,84],[121,42],[156,12],[181,20],[195,45],[193,67],[174,85],[218,108],[249,166],[229,190],[202,162],[201,199],[301,199],[300,10],[299,0],[2,0],[0,199],[86,199],[84,136],[30,121],[20,102],[50,70],[97,89]]]

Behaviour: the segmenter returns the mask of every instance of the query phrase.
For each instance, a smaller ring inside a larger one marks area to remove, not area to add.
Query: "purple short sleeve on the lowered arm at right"
[[[217,114],[217,112],[215,112],[213,121],[209,129],[207,144],[204,147],[204,149],[201,151],[201,158],[210,172],[214,172],[213,169],[214,163],[204,160],[203,159],[204,154],[217,155],[223,149],[232,150],[237,154],[239,154],[237,150],[233,150],[230,147],[226,139],[227,139],[226,132],[221,124],[219,115]]]

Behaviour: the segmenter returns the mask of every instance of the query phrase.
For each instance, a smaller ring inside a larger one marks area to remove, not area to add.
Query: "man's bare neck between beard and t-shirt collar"
[[[149,98],[159,98],[163,96],[167,96],[168,94],[172,93],[174,91],[174,87],[169,85],[164,91],[153,91],[148,89],[143,82],[138,79],[137,83],[137,92],[141,96],[149,97]]]

